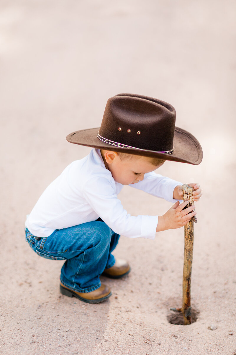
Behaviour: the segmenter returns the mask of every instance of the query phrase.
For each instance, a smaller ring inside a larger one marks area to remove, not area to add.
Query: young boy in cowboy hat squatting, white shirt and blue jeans
[[[120,278],[130,271],[125,260],[112,255],[121,234],[154,239],[156,232],[182,227],[196,214],[195,206],[183,209],[187,202],[179,201],[181,182],[154,173],[165,160],[202,160],[199,142],[175,127],[175,115],[161,100],[119,94],[108,100],[100,129],[67,136],[94,149],[47,187],[25,222],[26,239],[38,255],[65,260],[63,295],[89,303],[108,299],[111,291],[100,275]],[[117,198],[123,185],[175,203],[161,216],[131,216]],[[189,185],[198,201],[199,184]]]

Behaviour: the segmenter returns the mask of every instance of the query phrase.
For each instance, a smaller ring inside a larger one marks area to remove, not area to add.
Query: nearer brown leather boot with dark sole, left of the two
[[[102,284],[97,290],[84,293],[70,290],[68,287],[60,283],[60,292],[68,297],[74,296],[86,303],[100,303],[107,300],[111,296],[111,290],[104,284]]]

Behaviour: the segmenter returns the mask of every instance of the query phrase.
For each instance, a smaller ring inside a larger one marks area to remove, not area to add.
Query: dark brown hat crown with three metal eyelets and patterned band
[[[176,113],[172,105],[143,95],[118,94],[108,99],[98,134],[138,149],[173,149]]]

